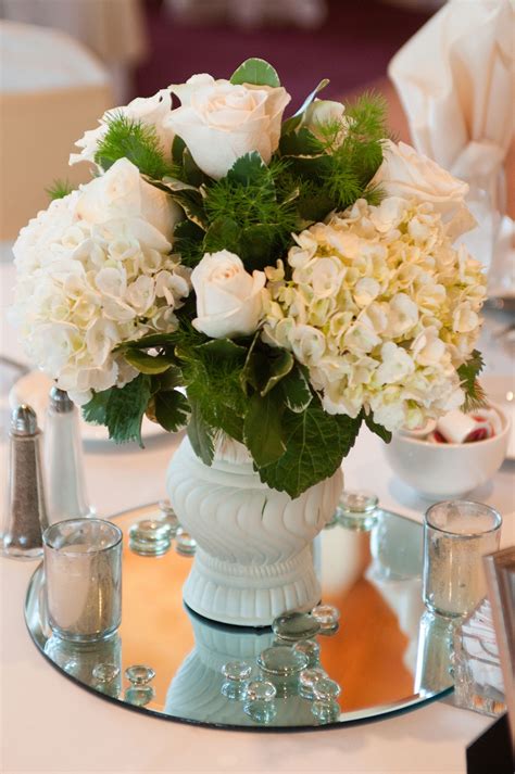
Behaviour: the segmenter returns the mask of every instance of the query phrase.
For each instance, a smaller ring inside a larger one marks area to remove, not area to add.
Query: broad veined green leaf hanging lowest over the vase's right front
[[[329,478],[354,445],[361,416],[326,414],[313,401],[305,411],[286,411],[282,418],[285,454],[273,465],[259,467],[261,481],[290,497]]]

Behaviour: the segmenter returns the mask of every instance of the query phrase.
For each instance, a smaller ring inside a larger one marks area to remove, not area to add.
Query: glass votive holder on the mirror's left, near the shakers
[[[68,519],[43,533],[49,623],[63,639],[110,637],[122,620],[122,531],[102,519]]]

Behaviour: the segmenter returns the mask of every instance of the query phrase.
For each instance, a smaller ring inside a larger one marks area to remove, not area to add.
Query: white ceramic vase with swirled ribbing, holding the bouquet
[[[260,481],[241,444],[218,443],[211,467],[186,437],[167,471],[180,523],[198,544],[184,599],[214,621],[267,626],[321,598],[313,540],[331,519],[341,470],[291,499]]]

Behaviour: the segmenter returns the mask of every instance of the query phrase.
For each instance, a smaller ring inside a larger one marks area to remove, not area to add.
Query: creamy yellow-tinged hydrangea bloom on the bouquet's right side
[[[266,269],[263,339],[309,368],[326,411],[397,430],[461,405],[486,281],[432,204],[359,200],[296,241],[289,279]]]

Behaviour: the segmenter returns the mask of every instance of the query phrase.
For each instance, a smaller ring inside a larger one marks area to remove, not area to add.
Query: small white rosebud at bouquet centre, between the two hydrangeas
[[[193,327],[213,339],[253,333],[263,314],[264,271],[244,270],[234,253],[206,253],[191,272],[197,294]]]

